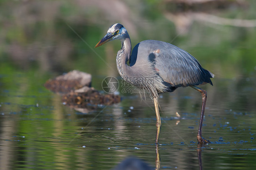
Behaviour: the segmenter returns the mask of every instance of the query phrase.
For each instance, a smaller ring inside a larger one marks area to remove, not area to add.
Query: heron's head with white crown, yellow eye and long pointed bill
[[[101,46],[105,44],[108,41],[112,40],[124,40],[127,37],[128,33],[127,30],[123,27],[121,24],[114,24],[109,27],[107,34],[100,40],[97,45],[95,45],[95,48],[98,46]]]

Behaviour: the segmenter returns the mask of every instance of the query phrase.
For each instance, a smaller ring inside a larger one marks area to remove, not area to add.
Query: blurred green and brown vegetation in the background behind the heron
[[[187,5],[179,0],[1,0],[1,73],[78,69],[92,75],[117,76],[115,56],[120,43],[93,47],[110,25],[120,22],[128,29],[133,46],[146,39],[163,40],[189,51],[218,77],[248,75],[256,69],[254,27],[214,25],[195,18],[190,19],[190,25],[179,26],[179,22],[186,22],[180,15],[188,12],[255,19],[255,1],[242,2],[219,5],[217,0],[205,9],[205,4],[200,8],[200,4]],[[176,18],[169,20],[166,14]]]

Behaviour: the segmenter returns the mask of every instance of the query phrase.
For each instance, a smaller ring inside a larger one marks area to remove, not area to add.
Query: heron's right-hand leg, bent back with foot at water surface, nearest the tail
[[[190,87],[199,91],[202,94],[202,109],[201,109],[200,122],[199,122],[198,133],[197,133],[197,140],[200,144],[210,143],[210,140],[206,140],[202,137],[202,126],[203,126],[203,120],[204,120],[207,92],[195,85],[191,85]]]

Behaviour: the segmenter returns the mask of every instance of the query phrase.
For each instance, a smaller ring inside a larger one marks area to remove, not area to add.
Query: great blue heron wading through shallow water
[[[199,62],[185,50],[157,40],[144,40],[133,48],[127,30],[117,23],[108,29],[107,35],[95,47],[111,40],[121,40],[122,48],[117,54],[117,68],[122,78],[129,83],[148,90],[156,112],[156,145],[158,145],[161,119],[158,109],[158,94],[173,92],[178,87],[190,86],[202,94],[202,109],[197,140],[210,143],[202,137],[202,125],[207,93],[196,85],[212,82],[214,75],[201,67]],[[129,65],[127,65],[129,61]]]

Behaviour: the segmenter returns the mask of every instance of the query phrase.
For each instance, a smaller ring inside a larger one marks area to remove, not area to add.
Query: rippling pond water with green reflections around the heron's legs
[[[27,86],[27,76],[1,75],[3,169],[108,170],[129,156],[155,167],[156,118],[149,98],[124,95],[119,104],[82,113],[63,105],[37,75],[30,75],[35,81]],[[187,87],[160,95],[160,169],[256,168],[256,80],[214,83],[202,86],[208,91],[203,136],[212,142],[204,146],[196,139],[200,93]],[[33,90],[23,93],[27,88]]]

